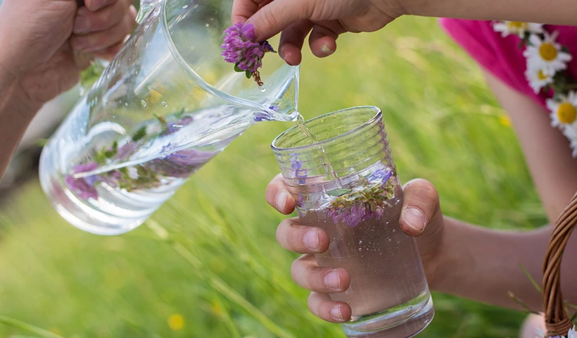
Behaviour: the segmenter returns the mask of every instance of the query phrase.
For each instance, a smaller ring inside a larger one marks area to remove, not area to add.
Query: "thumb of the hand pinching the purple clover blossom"
[[[255,28],[255,41],[265,41],[289,25],[310,17],[315,0],[274,0],[260,8],[246,23]]]

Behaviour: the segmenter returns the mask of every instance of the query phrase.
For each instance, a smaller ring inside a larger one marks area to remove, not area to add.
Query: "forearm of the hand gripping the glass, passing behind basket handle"
[[[517,308],[512,292],[531,309],[540,311],[543,299],[520,265],[541,284],[543,259],[552,227],[528,232],[491,230],[445,218],[437,291],[496,306]],[[564,298],[577,301],[574,281],[576,241],[567,245],[562,263]]]

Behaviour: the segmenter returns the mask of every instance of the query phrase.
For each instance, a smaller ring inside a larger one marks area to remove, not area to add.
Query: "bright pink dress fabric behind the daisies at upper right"
[[[526,58],[523,56],[524,49],[519,48],[519,37],[501,37],[500,32],[493,30],[490,21],[440,19],[440,25],[485,70],[545,107],[545,99],[552,95],[544,91],[535,94],[529,86],[524,75]],[[559,32],[557,42],[566,46],[573,56],[568,65],[569,75],[577,79],[577,27],[545,25],[544,28],[549,33]]]

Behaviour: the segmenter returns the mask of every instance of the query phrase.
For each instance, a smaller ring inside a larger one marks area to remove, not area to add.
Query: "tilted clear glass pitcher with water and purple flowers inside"
[[[263,58],[259,87],[222,58],[232,0],[141,0],[139,25],[44,147],[58,213],[96,234],[144,223],[247,127],[298,116],[298,68]]]

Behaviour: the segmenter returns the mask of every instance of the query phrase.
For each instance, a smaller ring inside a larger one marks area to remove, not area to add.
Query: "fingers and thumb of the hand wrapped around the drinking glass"
[[[438,284],[438,278],[443,277],[438,269],[443,260],[444,225],[438,194],[433,184],[426,180],[412,180],[403,189],[405,196],[400,227],[406,234],[417,237],[427,281],[431,289],[435,289],[434,284]],[[295,208],[295,201],[286,191],[281,175],[270,182],[266,195],[267,202],[281,213],[289,214]],[[291,273],[297,284],[312,291],[308,299],[310,311],[332,323],[349,320],[350,306],[329,298],[329,293],[344,292],[348,288],[350,277],[347,271],[342,268],[319,268],[313,256],[329,249],[326,232],[301,225],[298,218],[288,218],[277,228],[277,241],[284,249],[304,253],[294,261]],[[331,272],[336,274],[329,275]]]

